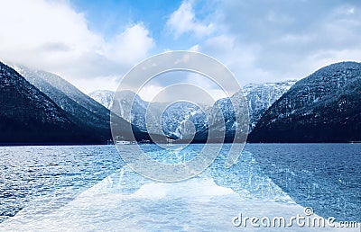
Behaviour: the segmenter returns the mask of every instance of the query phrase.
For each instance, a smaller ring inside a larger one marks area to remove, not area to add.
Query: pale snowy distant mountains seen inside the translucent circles
[[[164,134],[174,139],[190,139],[195,136],[194,140],[201,142],[207,139],[208,129],[212,129],[215,137],[222,138],[221,134],[226,132],[226,138],[233,139],[236,128],[245,125],[246,122],[241,123],[239,120],[236,122],[236,113],[245,115],[246,112],[234,109],[232,102],[238,106],[243,103],[245,106],[245,98],[241,93],[234,94],[230,99],[220,99],[215,106],[199,107],[188,102],[148,103],[131,91],[123,91],[116,93],[113,105],[119,116],[143,132]],[[242,109],[246,110],[246,107]],[[246,132],[245,128],[241,130]],[[217,140],[217,138],[212,139]]]

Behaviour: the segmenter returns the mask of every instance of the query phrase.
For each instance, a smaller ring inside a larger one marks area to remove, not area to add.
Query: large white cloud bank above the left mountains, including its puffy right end
[[[125,74],[153,48],[142,22],[105,40],[68,1],[4,1],[0,25],[0,60],[54,72],[85,92],[99,76],[106,83]]]

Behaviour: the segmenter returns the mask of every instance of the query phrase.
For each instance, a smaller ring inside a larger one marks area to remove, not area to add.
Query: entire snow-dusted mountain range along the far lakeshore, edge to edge
[[[224,133],[232,142],[238,129],[251,132],[250,142],[361,141],[361,64],[356,62],[323,67],[298,82],[245,85],[243,93],[201,106],[204,111],[191,103],[147,103],[125,91],[117,93],[117,114],[112,114],[114,92],[89,96],[60,76],[0,63],[0,144],[106,143],[112,139],[111,123],[120,140],[150,141],[152,135],[162,142],[205,142],[211,131],[213,141],[221,142],[218,135]],[[248,129],[242,127],[248,122],[236,121],[245,112],[236,112],[232,102],[247,104],[239,109],[249,109]]]

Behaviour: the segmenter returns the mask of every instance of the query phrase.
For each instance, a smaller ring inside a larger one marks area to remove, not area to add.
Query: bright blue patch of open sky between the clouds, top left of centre
[[[73,0],[70,4],[76,11],[86,14],[90,30],[102,33],[107,39],[125,30],[129,24],[142,22],[152,31],[153,37],[162,40],[164,22],[181,1]]]

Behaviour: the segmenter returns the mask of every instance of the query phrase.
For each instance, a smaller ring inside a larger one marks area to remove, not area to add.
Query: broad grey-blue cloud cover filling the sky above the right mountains
[[[242,85],[300,79],[331,63],[361,61],[360,10],[360,4],[331,1],[218,1],[208,12],[216,30],[193,44],[224,63]]]

